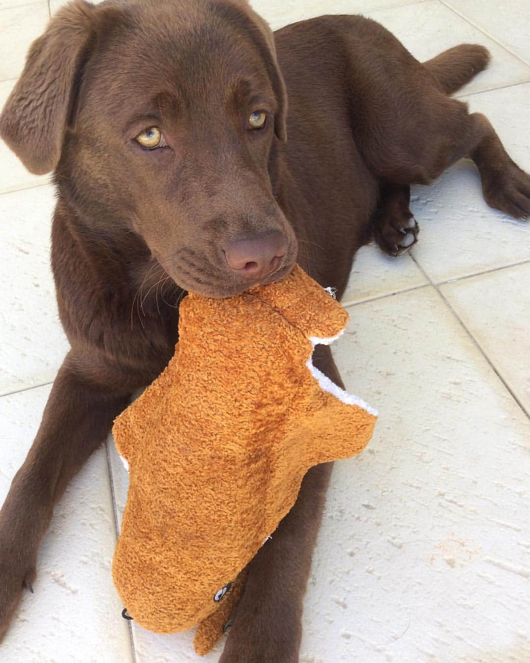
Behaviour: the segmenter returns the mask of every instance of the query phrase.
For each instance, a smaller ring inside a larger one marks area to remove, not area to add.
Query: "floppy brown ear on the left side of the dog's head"
[[[31,45],[0,115],[0,136],[36,175],[50,172],[59,162],[94,9],[77,0],[58,11]]]

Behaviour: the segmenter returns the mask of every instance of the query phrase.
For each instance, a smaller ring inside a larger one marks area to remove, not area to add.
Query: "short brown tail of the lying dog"
[[[484,46],[461,44],[423,62],[423,66],[433,74],[445,93],[453,94],[482,72],[490,58],[490,52]]]

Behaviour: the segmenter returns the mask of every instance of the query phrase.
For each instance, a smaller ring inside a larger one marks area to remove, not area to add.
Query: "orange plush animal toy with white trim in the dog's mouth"
[[[300,267],[234,297],[189,294],[169,365],[114,422],[130,484],[112,574],[156,633],[222,633],[245,567],[306,471],[361,452],[376,412],[312,365],[347,313]]]

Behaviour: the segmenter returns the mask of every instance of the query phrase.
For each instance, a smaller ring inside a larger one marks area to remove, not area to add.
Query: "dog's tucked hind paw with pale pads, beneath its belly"
[[[420,228],[409,209],[410,186],[381,184],[373,218],[374,239],[388,255],[405,253],[418,241]]]

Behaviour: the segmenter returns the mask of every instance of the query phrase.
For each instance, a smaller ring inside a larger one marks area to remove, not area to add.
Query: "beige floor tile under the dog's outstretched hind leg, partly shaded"
[[[470,111],[488,116],[509,154],[530,172],[530,84],[464,99]],[[433,282],[530,259],[530,224],[486,205],[472,162],[459,162],[433,186],[415,187],[413,193],[411,208],[421,233],[412,255]]]

